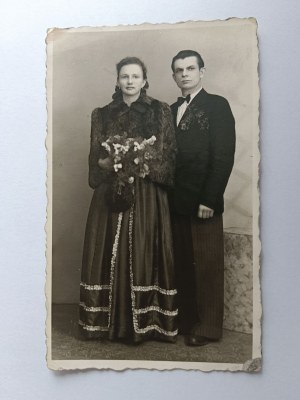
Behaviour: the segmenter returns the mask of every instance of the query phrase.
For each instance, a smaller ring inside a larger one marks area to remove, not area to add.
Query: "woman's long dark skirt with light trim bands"
[[[80,285],[86,338],[174,341],[176,290],[165,191],[139,179],[131,209],[110,212],[98,187],[91,202]]]

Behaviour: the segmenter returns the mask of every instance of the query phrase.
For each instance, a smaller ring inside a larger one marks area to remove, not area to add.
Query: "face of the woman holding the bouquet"
[[[143,70],[140,65],[124,65],[119,73],[117,84],[126,96],[137,96],[145,86]]]

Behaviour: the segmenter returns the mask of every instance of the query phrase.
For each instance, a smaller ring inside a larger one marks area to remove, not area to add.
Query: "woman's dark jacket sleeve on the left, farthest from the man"
[[[101,143],[105,140],[103,132],[103,118],[101,108],[96,108],[91,117],[91,142],[89,154],[89,185],[95,189],[101,182],[106,181],[109,173],[98,165],[99,158],[107,157],[107,153]]]

